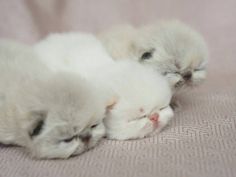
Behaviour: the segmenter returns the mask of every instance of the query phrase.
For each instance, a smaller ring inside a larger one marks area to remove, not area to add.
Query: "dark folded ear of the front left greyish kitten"
[[[41,133],[47,115],[48,111],[46,110],[34,110],[29,112],[28,120],[30,125],[28,128],[28,134],[30,138],[34,138]]]

